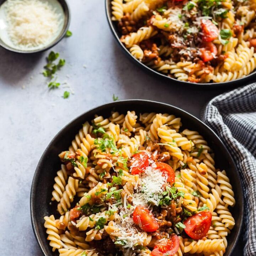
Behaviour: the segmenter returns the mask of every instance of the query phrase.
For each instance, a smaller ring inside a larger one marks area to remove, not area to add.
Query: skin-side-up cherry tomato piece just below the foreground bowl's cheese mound
[[[159,228],[154,215],[144,206],[137,206],[135,208],[133,222],[146,232],[154,232]]]

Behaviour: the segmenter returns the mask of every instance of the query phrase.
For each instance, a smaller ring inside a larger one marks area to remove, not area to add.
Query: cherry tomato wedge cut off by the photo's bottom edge
[[[151,252],[151,256],[167,256],[174,255],[180,246],[180,240],[177,235],[172,236],[169,239],[165,239],[159,244],[155,245],[154,250]]]

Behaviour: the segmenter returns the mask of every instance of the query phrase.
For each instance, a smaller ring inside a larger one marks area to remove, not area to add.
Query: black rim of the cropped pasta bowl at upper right
[[[110,29],[114,35],[114,38],[116,38],[116,41],[118,42],[119,46],[121,46],[121,48],[124,50],[124,52],[126,53],[126,55],[128,55],[128,57],[130,58],[130,60],[133,60],[138,66],[140,66],[141,68],[143,68],[145,71],[148,71],[148,73],[150,73],[151,75],[155,75],[155,76],[159,76],[163,79],[169,80],[169,82],[175,82],[176,84],[179,85],[186,85],[186,86],[195,86],[195,87],[202,87],[202,88],[216,88],[216,87],[228,87],[228,86],[241,86],[244,85],[245,82],[253,82],[253,79],[256,79],[256,70],[254,72],[252,72],[251,74],[243,77],[243,78],[239,78],[236,80],[232,80],[232,81],[227,81],[227,82],[218,82],[218,83],[192,83],[192,82],[187,82],[187,81],[180,81],[177,80],[175,78],[171,78],[169,76],[166,76],[165,74],[162,74],[154,69],[151,69],[150,67],[146,66],[144,63],[140,62],[138,59],[136,59],[135,57],[133,57],[133,55],[129,52],[129,50],[124,46],[124,44],[120,41],[119,36],[118,36],[118,32],[116,30],[116,28],[113,25],[113,21],[111,20],[111,0],[105,0],[105,9],[106,9],[106,15],[107,15],[107,20],[108,20],[108,25],[110,26]]]

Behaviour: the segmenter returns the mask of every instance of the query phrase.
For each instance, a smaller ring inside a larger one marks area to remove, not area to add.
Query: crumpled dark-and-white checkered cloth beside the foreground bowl
[[[240,172],[244,190],[244,255],[256,255],[256,83],[213,98],[202,120],[218,134]]]

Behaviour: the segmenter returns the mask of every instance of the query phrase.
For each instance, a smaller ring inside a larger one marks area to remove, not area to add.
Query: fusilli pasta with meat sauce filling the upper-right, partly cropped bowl
[[[255,74],[255,0],[113,0],[110,6],[114,34],[149,69],[203,84]]]

